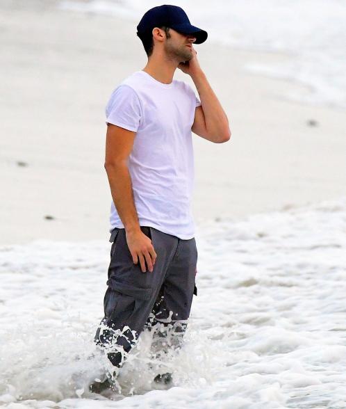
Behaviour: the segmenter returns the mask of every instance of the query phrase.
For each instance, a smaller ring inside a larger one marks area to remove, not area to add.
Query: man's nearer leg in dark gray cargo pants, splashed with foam
[[[178,239],[153,227],[141,227],[151,238],[157,259],[152,272],[143,273],[140,264],[133,264],[124,229],[118,229],[111,249],[108,268],[108,289],[104,297],[104,319],[94,337],[114,365],[121,367],[127,353],[145,326],[158,297],[165,272]]]

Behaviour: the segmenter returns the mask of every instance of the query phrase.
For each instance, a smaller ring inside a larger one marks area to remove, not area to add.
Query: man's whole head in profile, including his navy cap
[[[191,42],[201,44],[208,33],[190,24],[185,11],[178,6],[156,6],[143,15],[137,26],[137,35],[143,43],[147,56],[154,47],[164,49],[168,54],[177,54],[182,61],[192,58],[192,49],[186,47]]]

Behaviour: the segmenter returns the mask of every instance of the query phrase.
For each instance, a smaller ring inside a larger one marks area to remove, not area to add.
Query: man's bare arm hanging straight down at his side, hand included
[[[145,272],[145,262],[147,262],[149,271],[153,270],[156,252],[149,237],[140,230],[131,176],[127,167],[127,159],[133,147],[135,134],[134,131],[108,123],[104,167],[115,208],[125,227],[126,241],[133,262],[137,264],[139,259],[142,271]]]

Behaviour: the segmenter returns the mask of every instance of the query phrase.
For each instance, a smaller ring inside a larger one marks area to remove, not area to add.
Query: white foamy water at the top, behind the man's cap
[[[63,0],[59,7],[113,13],[133,22],[135,33],[142,15],[158,5],[152,0]],[[244,67],[308,87],[309,93],[297,91],[284,97],[345,110],[345,0],[186,0],[174,1],[174,5],[186,10],[193,25],[208,31],[208,42],[288,54],[285,63],[258,61]]]

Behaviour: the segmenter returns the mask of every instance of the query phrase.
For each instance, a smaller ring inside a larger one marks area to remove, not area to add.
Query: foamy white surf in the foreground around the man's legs
[[[346,197],[197,226],[198,295],[174,385],[153,385],[143,332],[121,392],[88,383],[107,362],[110,243],[0,247],[0,405],[20,408],[346,408]]]

